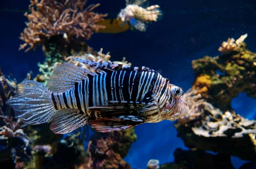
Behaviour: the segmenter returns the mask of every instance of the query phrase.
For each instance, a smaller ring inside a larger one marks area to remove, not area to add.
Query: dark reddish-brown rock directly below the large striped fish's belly
[[[88,149],[91,153],[90,166],[93,169],[131,169],[122,158],[136,141],[134,129],[98,133],[91,138]]]

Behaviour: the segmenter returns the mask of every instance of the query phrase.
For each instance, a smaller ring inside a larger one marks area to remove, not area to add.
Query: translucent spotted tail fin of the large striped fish
[[[15,110],[15,118],[25,124],[41,124],[57,111],[52,104],[52,91],[39,82],[27,80],[18,84],[16,95],[6,101]]]

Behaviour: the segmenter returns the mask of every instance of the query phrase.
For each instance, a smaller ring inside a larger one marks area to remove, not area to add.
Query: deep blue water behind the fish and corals
[[[146,66],[159,71],[172,84],[186,92],[195,81],[192,60],[204,56],[219,56],[218,48],[228,38],[245,39],[249,51],[256,52],[256,2],[254,0],[196,0],[171,1],[150,0],[163,11],[161,20],[149,23],[145,32],[127,30],[116,34],[95,33],[85,41],[95,51],[103,48],[110,52],[111,61],[121,61],[123,57],[134,66]],[[125,0],[88,0],[88,4],[100,3],[94,11],[108,13],[106,18],[116,18],[120,9],[125,8]],[[7,76],[12,73],[20,83],[32,71],[32,79],[40,73],[38,62],[45,56],[41,47],[37,50],[19,51],[23,42],[18,39],[26,27],[29,0],[1,0],[0,2],[0,68]],[[254,62],[256,59],[254,58]],[[252,77],[256,79],[256,75]],[[255,86],[251,86],[252,88]],[[254,95],[255,96],[255,95]],[[256,118],[256,100],[239,93],[231,102],[236,113],[253,120]],[[219,108],[219,107],[216,107]],[[124,160],[131,168],[146,168],[150,159],[160,164],[175,161],[175,149],[189,150],[183,140],[177,137],[175,121],[142,124],[135,127],[137,140]],[[210,152],[210,154],[216,154]],[[239,168],[249,161],[232,156],[233,167]],[[255,163],[254,163],[255,166]]]

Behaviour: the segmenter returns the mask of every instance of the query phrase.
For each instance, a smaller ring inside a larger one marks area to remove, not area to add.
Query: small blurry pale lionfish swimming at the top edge
[[[126,7],[117,15],[117,19],[124,23],[130,23],[131,29],[139,31],[146,31],[146,24],[151,21],[157,21],[158,17],[162,15],[160,6],[152,5],[143,8],[142,5],[148,0],[125,0]]]

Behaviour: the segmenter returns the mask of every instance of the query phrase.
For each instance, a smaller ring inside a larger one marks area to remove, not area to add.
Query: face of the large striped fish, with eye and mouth
[[[188,113],[189,107],[182,93],[183,90],[180,87],[170,84],[171,97],[163,107],[164,118],[166,120],[174,121]]]

